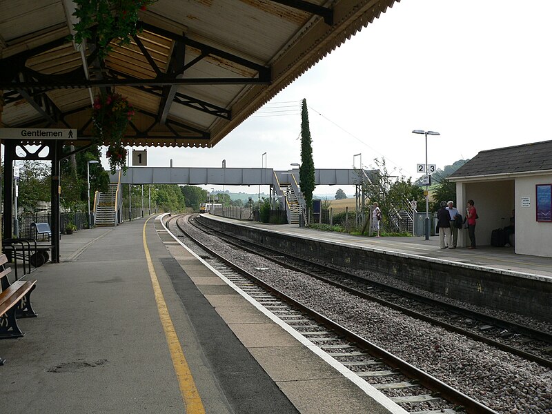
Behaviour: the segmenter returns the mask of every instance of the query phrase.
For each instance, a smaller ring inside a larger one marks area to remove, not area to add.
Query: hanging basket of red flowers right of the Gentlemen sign
[[[126,171],[126,148],[123,145],[128,122],[134,117],[132,104],[117,93],[97,95],[92,106],[94,134],[108,145],[111,172]]]

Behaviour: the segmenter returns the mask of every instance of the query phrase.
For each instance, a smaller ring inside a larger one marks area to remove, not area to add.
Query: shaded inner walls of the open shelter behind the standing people
[[[456,184],[457,208],[462,217],[466,217],[468,200],[474,201],[479,216],[475,226],[477,246],[490,245],[492,231],[495,228],[509,226],[511,212],[515,206],[514,185],[513,179]],[[458,245],[465,247],[468,244],[468,230],[460,230]]]

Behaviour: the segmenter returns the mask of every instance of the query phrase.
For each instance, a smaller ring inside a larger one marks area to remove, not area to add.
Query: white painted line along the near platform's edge
[[[168,214],[169,213],[166,213],[165,215],[168,215]],[[292,335],[295,339],[297,339],[297,341],[301,342],[304,346],[306,346],[308,349],[310,349],[313,353],[315,353],[316,355],[321,357],[324,360],[324,362],[326,362],[327,364],[332,366],[336,371],[341,373],[344,377],[346,377],[348,380],[353,382],[353,384],[355,384],[360,389],[362,389],[362,391],[364,391],[364,393],[366,393],[366,395],[368,395],[373,400],[375,400],[375,402],[377,402],[377,403],[381,404],[382,406],[384,406],[384,408],[386,408],[390,413],[392,413],[392,414],[408,414],[408,411],[404,410],[404,408],[402,408],[401,406],[399,406],[395,402],[391,401],[383,393],[381,393],[380,391],[377,391],[376,388],[374,388],[373,386],[368,384],[368,382],[366,382],[361,377],[359,377],[358,375],[353,373],[353,371],[351,371],[349,368],[347,368],[346,366],[344,366],[343,364],[338,362],[336,359],[334,359],[333,357],[328,355],[326,352],[322,351],[321,348],[319,348],[318,346],[313,344],[311,341],[306,339],[303,335],[301,335],[300,333],[295,331],[294,328],[292,328],[291,326],[286,324],[286,322],[282,321],[282,319],[280,319],[279,317],[274,315],[272,312],[268,311],[268,309],[266,309],[264,306],[262,306],[262,304],[259,304],[259,302],[257,302],[255,299],[253,299],[253,297],[250,297],[242,289],[240,289],[238,286],[233,284],[233,282],[231,282],[226,276],[219,273],[219,271],[217,269],[210,266],[210,264],[208,264],[204,259],[201,259],[201,257],[199,257],[192,250],[190,250],[190,248],[188,248],[188,246],[186,246],[177,237],[175,237],[175,235],[173,235],[170,232],[170,230],[168,230],[168,228],[165,226],[165,223],[162,220],[162,218],[165,215],[160,215],[160,216],[156,217],[156,220],[157,219],[161,220],[161,224],[168,231],[168,234],[170,234],[171,237],[173,239],[175,239],[182,247],[184,247],[186,250],[188,250],[188,252],[191,255],[193,255],[195,258],[197,258],[199,260],[199,262],[201,262],[201,264],[204,264],[204,266],[209,268],[213,273],[215,273],[215,275],[220,277],[226,284],[228,284],[228,286],[230,286],[237,293],[239,293],[239,295],[242,295],[242,297],[244,297],[244,299],[246,299],[250,304],[255,306],[255,308],[257,308],[264,315],[266,315],[268,318],[270,318],[275,324],[277,324],[282,329],[284,329],[284,331],[286,331],[287,333]]]

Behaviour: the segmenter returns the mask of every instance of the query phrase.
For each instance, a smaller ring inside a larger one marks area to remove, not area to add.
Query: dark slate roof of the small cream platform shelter
[[[552,141],[481,151],[449,178],[552,170]]]

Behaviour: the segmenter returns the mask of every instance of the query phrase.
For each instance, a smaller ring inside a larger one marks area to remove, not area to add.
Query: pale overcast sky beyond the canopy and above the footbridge
[[[148,165],[261,167],[266,151],[268,168],[287,170],[300,161],[303,98],[316,168],[352,168],[362,153],[366,168],[385,157],[417,178],[425,141],[415,129],[440,132],[428,137],[437,168],[551,139],[551,16],[549,0],[402,0],[215,148],[149,148]]]

